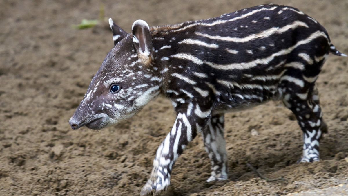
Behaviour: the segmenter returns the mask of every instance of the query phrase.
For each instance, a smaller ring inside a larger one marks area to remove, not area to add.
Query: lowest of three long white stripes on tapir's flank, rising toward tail
[[[327,36],[325,35],[324,32],[322,31],[316,31],[312,33],[307,39],[303,39],[296,43],[294,46],[291,46],[287,49],[283,49],[279,52],[276,52],[266,58],[263,59],[256,59],[250,62],[242,62],[242,63],[232,63],[232,64],[227,64],[227,65],[216,65],[215,63],[207,62],[205,63],[213,68],[216,69],[222,69],[222,70],[231,70],[231,69],[248,69],[252,67],[256,67],[258,64],[261,65],[267,65],[270,61],[272,61],[275,57],[280,56],[280,55],[286,55],[291,53],[296,47],[307,44],[311,42],[313,39],[318,38],[318,37],[325,37],[327,39]]]

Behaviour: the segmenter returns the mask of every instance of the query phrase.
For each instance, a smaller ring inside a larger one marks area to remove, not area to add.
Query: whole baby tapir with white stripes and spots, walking
[[[175,160],[198,133],[211,159],[207,181],[228,178],[224,113],[282,100],[303,131],[299,162],[319,160],[326,131],[315,81],[335,49],[322,25],[296,8],[260,5],[207,20],[127,33],[109,19],[114,47],[69,123],[102,129],[138,113],[159,94],[177,117],[159,145],[141,195],[169,186]]]

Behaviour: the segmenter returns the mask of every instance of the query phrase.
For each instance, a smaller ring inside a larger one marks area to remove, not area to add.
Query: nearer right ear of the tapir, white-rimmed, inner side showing
[[[148,23],[136,20],[132,25],[133,46],[138,55],[148,56],[152,53],[152,38]]]

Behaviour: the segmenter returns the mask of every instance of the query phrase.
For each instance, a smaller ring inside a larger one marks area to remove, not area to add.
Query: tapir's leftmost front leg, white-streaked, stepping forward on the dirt
[[[198,104],[194,107],[192,103],[185,106],[184,110],[177,110],[181,112],[177,113],[171,132],[157,149],[150,178],[141,195],[157,195],[169,186],[176,159],[185,146],[196,137],[197,131],[205,127],[210,117],[210,109],[202,112]]]

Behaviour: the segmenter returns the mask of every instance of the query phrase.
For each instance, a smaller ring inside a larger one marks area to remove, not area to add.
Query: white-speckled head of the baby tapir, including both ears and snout
[[[85,97],[69,120],[71,128],[102,129],[128,119],[158,95],[161,79],[152,65],[149,25],[133,23],[127,33],[109,19],[114,47],[88,86]]]

